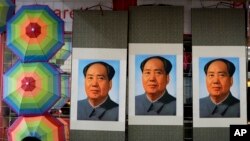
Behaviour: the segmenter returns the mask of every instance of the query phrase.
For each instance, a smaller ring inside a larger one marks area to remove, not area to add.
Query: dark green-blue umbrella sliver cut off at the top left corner
[[[0,0],[0,33],[6,30],[6,22],[14,15],[15,5],[12,0]]]

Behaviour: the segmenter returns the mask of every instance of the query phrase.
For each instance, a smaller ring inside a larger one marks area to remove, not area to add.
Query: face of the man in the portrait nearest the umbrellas
[[[93,64],[89,67],[85,77],[85,91],[91,100],[102,100],[107,97],[112,87],[108,80],[106,68],[102,64]]]

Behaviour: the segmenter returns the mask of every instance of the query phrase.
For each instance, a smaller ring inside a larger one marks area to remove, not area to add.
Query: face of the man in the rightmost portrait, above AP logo
[[[212,97],[224,97],[233,84],[233,78],[229,76],[227,66],[222,61],[215,61],[208,67],[206,85],[208,93]]]

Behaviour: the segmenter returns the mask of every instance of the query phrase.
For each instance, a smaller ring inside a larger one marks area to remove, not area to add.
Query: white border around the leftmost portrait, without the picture
[[[78,62],[82,59],[120,60],[118,121],[77,120]],[[70,129],[125,131],[127,49],[76,48],[72,50]]]

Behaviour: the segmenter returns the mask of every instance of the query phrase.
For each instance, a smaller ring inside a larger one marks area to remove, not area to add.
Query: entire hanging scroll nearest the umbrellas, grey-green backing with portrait
[[[72,141],[125,140],[127,23],[127,12],[74,11]]]

